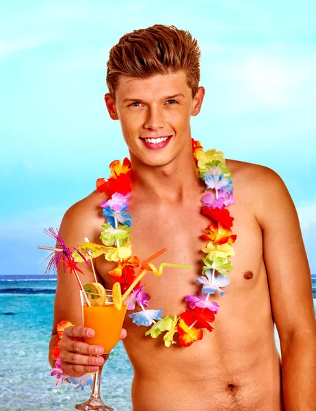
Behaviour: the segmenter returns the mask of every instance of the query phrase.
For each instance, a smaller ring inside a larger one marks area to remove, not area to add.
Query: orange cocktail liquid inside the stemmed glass
[[[83,306],[83,325],[94,329],[96,332],[92,338],[85,338],[85,343],[102,345],[105,353],[109,353],[120,340],[124,316],[127,306],[123,304],[118,310],[114,303],[106,303],[105,306]]]

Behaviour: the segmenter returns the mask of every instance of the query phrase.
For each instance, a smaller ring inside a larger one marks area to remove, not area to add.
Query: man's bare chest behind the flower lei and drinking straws
[[[239,293],[241,289],[245,290],[245,284],[246,289],[251,289],[259,281],[262,234],[256,223],[252,204],[237,194],[235,199],[236,204],[228,207],[234,218],[233,234],[237,234],[237,240],[233,244],[235,256],[231,257],[234,271],[230,274],[231,285],[226,288],[227,291],[228,288],[230,291],[236,289]],[[205,228],[209,225],[208,217],[203,216],[200,209],[199,198],[174,207],[131,201],[133,256],[143,261],[166,247],[168,251],[153,261],[155,266],[158,267],[161,262],[192,266],[191,270],[166,268],[161,277],[147,273],[141,284],[145,285],[150,296],[150,308],[181,312],[186,307],[185,296],[200,291],[200,284],[196,283],[196,279],[201,275],[204,265],[202,258],[206,256],[202,249],[207,246],[207,241],[200,236],[205,234]],[[98,272],[109,288],[114,279],[109,277],[108,271],[114,266],[103,257],[98,259]],[[235,291],[230,294],[235,294]],[[218,298],[215,295],[213,301]]]

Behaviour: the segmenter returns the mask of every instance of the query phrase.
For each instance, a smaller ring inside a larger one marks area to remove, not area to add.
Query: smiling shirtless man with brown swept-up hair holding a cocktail
[[[189,34],[157,25],[125,35],[111,50],[107,69],[105,103],[111,119],[120,121],[133,169],[133,256],[142,261],[167,247],[156,266],[161,261],[194,266],[194,271],[166,269],[161,277],[148,273],[142,280],[149,308],[163,308],[163,315],[184,312],[185,295],[200,292],[196,279],[206,244],[200,234],[209,219],[200,213],[205,184],[192,158],[190,132],[190,118],[200,112],[205,96],[198,86],[199,57]],[[205,134],[194,137],[220,149],[220,138]],[[148,149],[142,140],[161,136],[171,136],[163,149]],[[102,150],[111,150],[112,138]],[[226,160],[226,166],[236,200],[228,210],[237,234],[228,294],[211,296],[220,304],[213,332],[204,331],[202,340],[187,348],[166,348],[126,316],[121,337],[127,336],[123,343],[135,372],[134,411],[316,410],[311,275],[295,206],[271,169],[236,160]],[[101,243],[103,201],[104,193],[94,191],[66,212],[60,232],[67,245],[80,245],[85,237]],[[111,288],[108,272],[115,264],[103,256],[95,264],[98,281]],[[85,264],[80,268],[83,281],[93,282],[92,271]],[[65,319],[79,326],[66,328],[60,341],[64,373],[78,377],[95,371],[97,347],[74,339],[94,333],[80,325],[77,283],[60,273],[50,353],[56,325]]]

